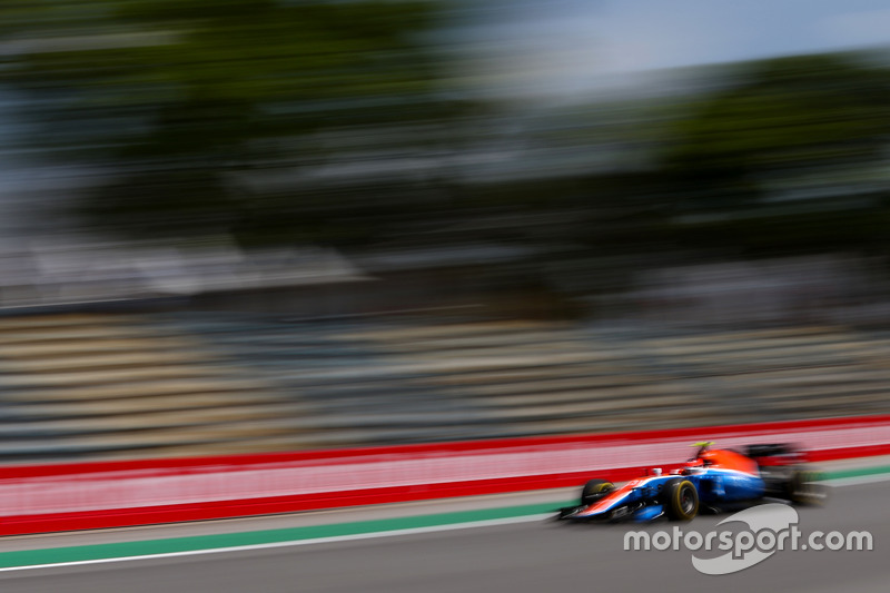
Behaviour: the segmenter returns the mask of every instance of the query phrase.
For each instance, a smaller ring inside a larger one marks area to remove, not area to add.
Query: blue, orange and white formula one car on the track
[[[742,452],[711,449],[711,445],[695,443],[695,456],[666,475],[654,468],[620,488],[591,480],[581,492],[581,503],[561,510],[558,518],[690,521],[700,512],[744,507],[764,497],[792,504],[818,504],[825,497],[819,475],[805,467],[804,455],[791,445],[749,445]]]

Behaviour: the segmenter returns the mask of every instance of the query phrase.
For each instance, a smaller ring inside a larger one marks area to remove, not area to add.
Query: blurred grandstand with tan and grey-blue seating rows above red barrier
[[[890,411],[890,335],[234,313],[0,318],[2,459],[293,451]]]

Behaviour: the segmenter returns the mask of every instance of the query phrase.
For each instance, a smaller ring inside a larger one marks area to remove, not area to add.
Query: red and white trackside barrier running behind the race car
[[[49,533],[627,480],[721,446],[791,442],[812,461],[890,454],[890,416],[863,416],[263,455],[6,466],[0,535]]]

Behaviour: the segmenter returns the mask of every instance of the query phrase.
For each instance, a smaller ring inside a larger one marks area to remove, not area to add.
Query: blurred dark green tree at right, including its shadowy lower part
[[[862,55],[726,67],[664,152],[679,244],[741,253],[871,248],[890,221],[890,71]]]

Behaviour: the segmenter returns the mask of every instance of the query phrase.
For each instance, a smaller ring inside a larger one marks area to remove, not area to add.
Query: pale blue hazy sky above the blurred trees
[[[495,0],[476,76],[508,92],[595,92],[641,72],[890,45],[887,0]]]

